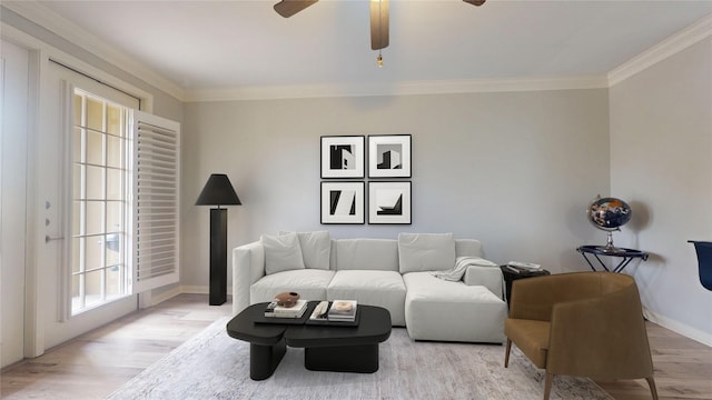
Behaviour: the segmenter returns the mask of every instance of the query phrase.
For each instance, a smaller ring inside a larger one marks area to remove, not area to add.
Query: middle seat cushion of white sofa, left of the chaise
[[[405,284],[396,271],[336,271],[326,290],[327,300],[357,300],[390,312],[390,323],[405,324]]]

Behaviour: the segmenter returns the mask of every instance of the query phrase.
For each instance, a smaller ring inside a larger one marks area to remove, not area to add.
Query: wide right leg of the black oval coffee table
[[[378,343],[306,348],[304,368],[312,371],[373,373],[378,370]]]

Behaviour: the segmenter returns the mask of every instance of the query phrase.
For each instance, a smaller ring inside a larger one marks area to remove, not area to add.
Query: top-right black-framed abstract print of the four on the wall
[[[368,136],[368,178],[411,178],[411,134]]]

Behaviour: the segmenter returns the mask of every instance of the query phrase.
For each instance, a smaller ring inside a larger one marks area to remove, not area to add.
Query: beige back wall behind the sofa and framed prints
[[[334,238],[454,232],[497,262],[585,270],[575,248],[604,242],[586,204],[609,189],[607,90],[335,98],[186,104],[182,282],[208,280],[208,208],[190,207],[227,173],[228,248],[279,230]],[[320,226],[319,137],[413,136],[412,226]]]

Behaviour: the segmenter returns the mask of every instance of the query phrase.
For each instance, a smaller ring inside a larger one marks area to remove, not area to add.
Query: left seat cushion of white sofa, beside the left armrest
[[[305,300],[326,300],[326,288],[334,271],[300,269],[263,277],[249,288],[250,303],[271,301],[285,291],[296,291]]]

